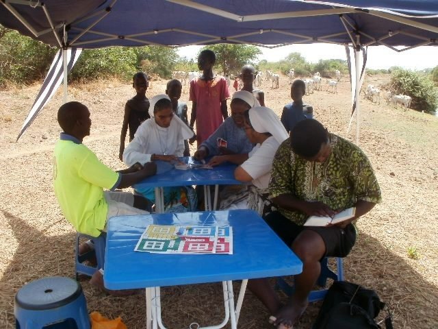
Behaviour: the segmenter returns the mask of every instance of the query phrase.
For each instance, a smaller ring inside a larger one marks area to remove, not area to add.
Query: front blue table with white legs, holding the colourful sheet
[[[233,227],[233,254],[172,255],[134,252],[149,224]],[[104,282],[107,289],[146,288],[146,328],[165,328],[161,319],[159,287],[222,282],[225,318],[237,328],[246,283],[300,273],[298,257],[253,210],[183,212],[112,217],[107,228]],[[243,280],[237,305],[231,280]],[[210,327],[206,327],[210,328]]]

